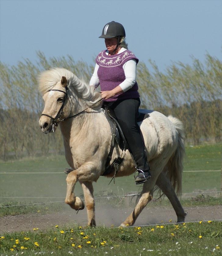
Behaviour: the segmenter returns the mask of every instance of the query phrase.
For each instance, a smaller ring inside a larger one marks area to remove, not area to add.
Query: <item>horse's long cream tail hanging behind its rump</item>
[[[168,161],[165,170],[166,175],[169,177],[174,190],[176,190],[177,195],[181,195],[182,191],[182,172],[183,172],[183,158],[185,156],[185,134],[184,134],[184,126],[182,122],[172,116],[169,116],[168,119],[174,124],[177,130],[177,149],[174,154],[171,156]]]

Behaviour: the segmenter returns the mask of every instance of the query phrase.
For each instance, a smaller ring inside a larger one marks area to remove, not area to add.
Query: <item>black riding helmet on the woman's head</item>
[[[125,29],[122,24],[115,21],[111,21],[104,26],[102,30],[102,35],[99,36],[99,38],[112,38],[115,36],[125,37]]]

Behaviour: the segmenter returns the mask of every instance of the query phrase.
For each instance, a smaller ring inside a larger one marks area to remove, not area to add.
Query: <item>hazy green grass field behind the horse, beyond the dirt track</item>
[[[191,170],[220,170],[221,144],[186,147],[182,192],[220,191],[221,172],[187,172]],[[63,155],[26,158],[19,161],[1,162],[1,203],[11,200],[25,202],[61,201],[66,195],[66,174],[68,167]],[[46,172],[46,173],[45,173]],[[49,173],[51,172],[51,173]],[[141,190],[136,186],[133,175],[116,179],[108,186],[110,179],[101,176],[94,183],[95,196],[124,195]],[[80,184],[75,187],[77,195],[82,193]],[[7,197],[7,198],[6,198]]]

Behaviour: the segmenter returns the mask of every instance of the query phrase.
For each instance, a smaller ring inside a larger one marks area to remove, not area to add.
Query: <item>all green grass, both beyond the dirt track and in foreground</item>
[[[187,172],[220,170],[221,151],[221,144],[186,147],[183,193],[200,193],[192,195],[192,199],[182,198],[183,206],[221,204],[221,197],[199,195],[202,191],[220,191],[221,172]],[[64,204],[66,175],[63,169],[68,167],[64,156],[26,158],[1,162],[0,166],[1,206],[50,201],[63,201]],[[109,181],[100,177],[94,183],[95,197],[126,195],[127,192],[141,189],[134,184],[132,175],[117,178],[116,184],[108,186]],[[82,194],[79,184],[75,192],[77,195]],[[96,200],[98,204],[100,201]],[[120,198],[112,198],[109,203],[115,205],[115,200]],[[168,200],[151,203],[154,206],[169,205]],[[63,210],[59,202],[50,206],[2,208],[0,216]],[[45,232],[36,229],[33,232],[6,233],[0,236],[0,255],[221,255],[221,230],[222,222],[216,221],[85,230],[79,226],[58,226]]]

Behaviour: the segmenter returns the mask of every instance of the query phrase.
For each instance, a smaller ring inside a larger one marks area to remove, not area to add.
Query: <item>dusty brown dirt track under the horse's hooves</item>
[[[71,208],[65,208],[63,213],[54,214],[29,214],[6,216],[0,220],[0,234],[4,232],[28,231],[33,228],[39,228],[43,231],[48,228],[59,226],[71,226],[72,224],[87,225],[87,213],[84,209],[78,214]],[[222,219],[222,206],[195,206],[184,207],[187,213],[186,221],[199,220],[217,220]],[[115,209],[109,205],[96,208],[96,223],[97,225],[105,225],[110,227],[112,224],[118,226],[131,213],[132,209],[120,208]],[[138,217],[135,225],[147,225],[168,223],[177,220],[176,214],[172,208],[165,207],[146,207]]]

